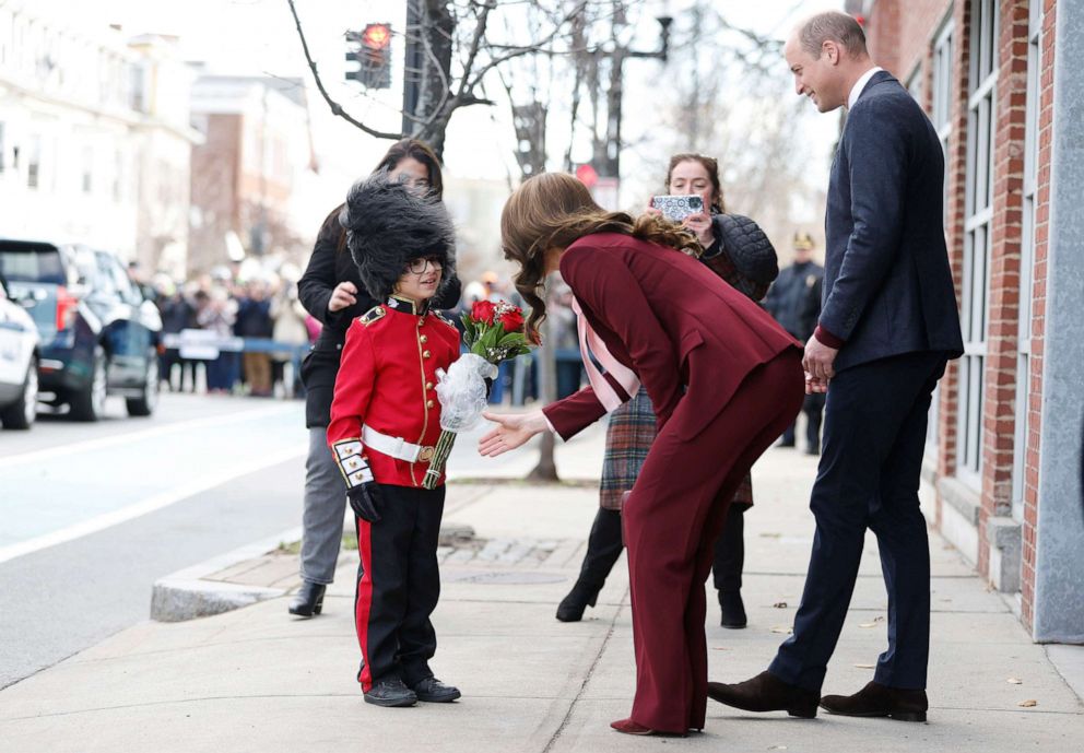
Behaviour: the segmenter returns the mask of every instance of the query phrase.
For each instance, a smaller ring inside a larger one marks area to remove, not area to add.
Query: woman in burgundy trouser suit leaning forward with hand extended
[[[633,734],[703,729],[714,544],[734,491],[801,408],[801,348],[693,258],[700,248],[691,235],[652,216],[604,212],[569,175],[525,181],[500,230],[532,307],[529,332],[545,316],[545,277],[559,270],[580,309],[584,350],[606,372],[585,353],[590,387],[541,411],[486,414],[497,426],[479,450],[497,456],[547,427],[568,439],[643,383],[659,434],[623,513],[636,696],[629,718],[611,726]]]

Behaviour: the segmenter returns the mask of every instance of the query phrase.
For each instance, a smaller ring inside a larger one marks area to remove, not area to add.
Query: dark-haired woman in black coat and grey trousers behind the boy
[[[392,144],[373,174],[387,173],[419,192],[440,198],[444,181],[440,162],[416,139]],[[327,430],[331,416],[335,375],[346,330],[351,322],[377,305],[366,292],[346,248],[346,231],[339,223],[342,207],[323,221],[308,268],[297,283],[305,310],[323,325],[313,350],[302,364],[305,385],[305,426],[309,432],[305,464],[305,511],[302,518],[302,588],[290,602],[290,613],[310,617],[323,609],[323,592],[334,578],[346,510],[346,486],[328,451]],[[459,301],[458,278],[434,302],[435,308],[451,308]]]

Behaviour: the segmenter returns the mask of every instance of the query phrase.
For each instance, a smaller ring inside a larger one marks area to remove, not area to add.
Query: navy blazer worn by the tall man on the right
[[[903,353],[963,354],[943,201],[932,123],[877,71],[847,116],[828,183],[820,325],[845,341],[836,370]]]

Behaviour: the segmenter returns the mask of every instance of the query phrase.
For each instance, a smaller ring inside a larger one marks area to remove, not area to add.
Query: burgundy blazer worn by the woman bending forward
[[[801,352],[764,309],[669,247],[617,233],[588,235],[561,256],[561,277],[610,353],[639,377],[660,433],[679,402],[687,401],[674,431],[692,439],[750,372],[789,348]],[[543,412],[568,439],[606,411],[585,387]]]

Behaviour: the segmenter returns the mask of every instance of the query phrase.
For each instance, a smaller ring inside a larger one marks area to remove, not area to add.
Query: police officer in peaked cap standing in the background
[[[813,261],[813,236],[794,234],[794,263],[779,272],[768,291],[764,307],[782,328],[800,342],[808,342],[821,313],[821,284],[824,267]],[[811,316],[812,315],[812,316]],[[805,451],[821,454],[821,419],[824,414],[824,395],[808,395],[802,405],[805,413]],[[794,446],[794,424],[783,432],[779,447]]]

